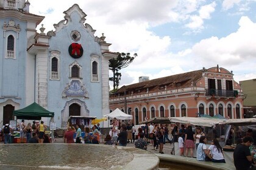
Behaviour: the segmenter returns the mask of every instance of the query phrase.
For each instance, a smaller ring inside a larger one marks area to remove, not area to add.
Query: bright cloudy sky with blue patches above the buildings
[[[256,78],[256,0],[30,0],[45,32],[78,4],[112,52],[138,53],[120,87],[219,64],[235,81]],[[47,5],[42,5],[47,4]],[[60,5],[62,4],[62,5]],[[38,25],[37,29],[40,29]],[[110,73],[110,75],[112,75]],[[112,85],[112,84],[110,84]]]

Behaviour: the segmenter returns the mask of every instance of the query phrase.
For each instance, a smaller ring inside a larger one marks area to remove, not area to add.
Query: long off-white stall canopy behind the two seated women
[[[219,119],[216,118],[206,118],[206,117],[169,117],[169,121],[176,123],[187,123],[194,124],[197,126],[208,126],[212,127],[219,124]]]

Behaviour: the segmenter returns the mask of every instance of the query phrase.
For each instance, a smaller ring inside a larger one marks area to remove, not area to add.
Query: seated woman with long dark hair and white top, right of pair
[[[219,145],[219,141],[215,138],[212,141],[212,145],[209,146],[207,154],[210,154],[212,151],[212,161],[217,163],[226,163],[224,160],[224,154],[222,152],[221,145]]]

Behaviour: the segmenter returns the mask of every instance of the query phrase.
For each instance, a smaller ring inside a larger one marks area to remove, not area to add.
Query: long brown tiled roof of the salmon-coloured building
[[[130,94],[132,91],[133,94],[138,94],[140,92],[145,93],[147,89],[149,89],[149,92],[157,92],[160,89],[165,89],[165,87],[167,90],[190,87],[192,83],[196,84],[196,82],[202,78],[202,72],[204,72],[204,70],[195,70],[192,72],[143,81],[141,83],[130,84],[118,89],[116,94],[124,94],[124,89],[126,89],[127,94]]]

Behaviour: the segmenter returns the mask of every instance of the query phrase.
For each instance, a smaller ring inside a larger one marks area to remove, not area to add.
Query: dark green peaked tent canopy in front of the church
[[[54,117],[54,112],[50,112],[34,102],[23,109],[14,110],[13,116],[16,116],[17,119],[41,120],[41,117]]]

